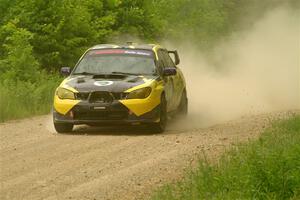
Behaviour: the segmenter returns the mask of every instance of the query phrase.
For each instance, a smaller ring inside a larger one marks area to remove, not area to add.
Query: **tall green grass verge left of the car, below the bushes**
[[[0,83],[0,122],[49,113],[59,82],[60,78],[51,77],[34,84]]]

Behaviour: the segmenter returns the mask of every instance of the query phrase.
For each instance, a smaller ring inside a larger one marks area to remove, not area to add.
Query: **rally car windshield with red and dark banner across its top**
[[[77,65],[73,74],[136,74],[156,73],[154,56],[148,50],[91,50]]]

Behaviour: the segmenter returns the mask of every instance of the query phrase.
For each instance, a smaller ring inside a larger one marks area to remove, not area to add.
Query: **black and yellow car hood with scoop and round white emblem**
[[[132,87],[151,82],[159,76],[136,75],[76,75],[68,77],[62,84],[74,88],[78,92],[108,91],[124,92]]]

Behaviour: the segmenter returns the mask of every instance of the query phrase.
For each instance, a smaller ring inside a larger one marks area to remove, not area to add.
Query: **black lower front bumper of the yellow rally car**
[[[119,101],[110,104],[80,102],[65,114],[53,109],[55,123],[79,124],[144,124],[159,122],[159,106],[137,116]]]

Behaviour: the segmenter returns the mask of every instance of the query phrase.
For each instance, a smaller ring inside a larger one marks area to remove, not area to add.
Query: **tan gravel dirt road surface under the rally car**
[[[147,198],[182,176],[203,152],[214,160],[226,147],[259,136],[272,119],[293,114],[247,116],[204,128],[173,121],[164,134],[85,126],[56,134],[49,115],[3,123],[0,199]]]

